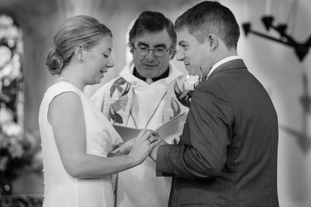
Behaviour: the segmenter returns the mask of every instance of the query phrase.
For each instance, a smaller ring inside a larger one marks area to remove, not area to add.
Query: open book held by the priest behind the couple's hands
[[[163,124],[162,126],[158,127],[155,130],[157,136],[163,138],[164,140],[170,140],[182,135],[187,115],[187,112],[181,113]],[[116,124],[113,124],[113,126],[124,142],[137,137],[138,133],[142,130],[131,127],[124,127]]]

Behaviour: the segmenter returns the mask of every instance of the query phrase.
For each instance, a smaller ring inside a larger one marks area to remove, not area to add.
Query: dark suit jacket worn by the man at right
[[[179,145],[157,150],[173,176],[169,207],[278,207],[278,126],[272,101],[241,59],[194,91]]]

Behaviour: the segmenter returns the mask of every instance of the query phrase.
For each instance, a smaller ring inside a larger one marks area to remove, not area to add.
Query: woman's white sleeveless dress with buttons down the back
[[[49,104],[64,92],[78,94],[84,112],[86,153],[107,157],[113,146],[122,143],[114,127],[92,101],[68,82],[50,86],[44,94],[39,110],[41,135],[44,201],[43,207],[113,207],[114,194],[111,177],[74,178],[64,169],[52,127],[47,120]]]

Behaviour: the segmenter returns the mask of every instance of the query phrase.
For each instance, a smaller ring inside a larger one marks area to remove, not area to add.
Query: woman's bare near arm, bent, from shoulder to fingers
[[[126,155],[101,157],[86,154],[83,107],[76,93],[55,97],[48,111],[56,146],[67,173],[76,178],[101,177],[141,164],[159,140],[149,143],[152,131],[142,130]],[[103,135],[104,136],[104,135]]]

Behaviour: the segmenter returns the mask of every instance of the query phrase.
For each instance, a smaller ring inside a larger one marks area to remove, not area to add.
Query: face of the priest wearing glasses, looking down
[[[137,36],[132,51],[137,72],[146,78],[163,74],[173,57],[171,45],[172,40],[166,29],[156,33],[144,32]]]

